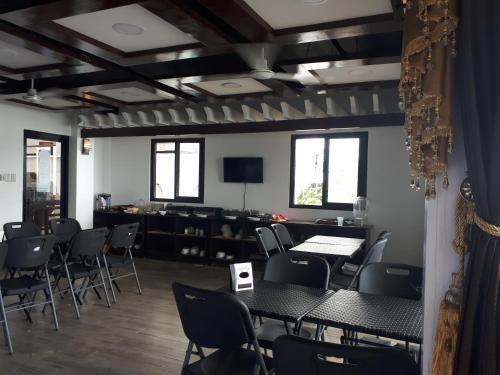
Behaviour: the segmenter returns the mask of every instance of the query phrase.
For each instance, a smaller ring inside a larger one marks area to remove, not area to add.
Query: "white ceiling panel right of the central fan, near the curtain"
[[[401,64],[374,64],[343,66],[314,71],[327,84],[396,80],[401,75]]]

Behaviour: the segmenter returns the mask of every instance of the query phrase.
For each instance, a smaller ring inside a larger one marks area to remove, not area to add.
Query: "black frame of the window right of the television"
[[[295,148],[298,139],[323,138],[325,150],[323,155],[323,195],[322,205],[295,204]],[[318,210],[352,211],[352,203],[328,202],[328,163],[330,160],[330,139],[358,138],[358,192],[357,196],[366,197],[368,173],[368,132],[321,133],[321,134],[292,134],[290,149],[290,208],[307,208]]]

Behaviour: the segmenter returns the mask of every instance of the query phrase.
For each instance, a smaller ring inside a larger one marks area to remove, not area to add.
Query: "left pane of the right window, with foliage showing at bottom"
[[[295,141],[295,204],[322,205],[324,153],[323,138],[299,138]]]

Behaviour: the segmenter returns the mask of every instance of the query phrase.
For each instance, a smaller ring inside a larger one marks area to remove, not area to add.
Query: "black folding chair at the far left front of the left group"
[[[25,273],[0,281],[0,299],[2,300],[0,308],[2,309],[4,332],[10,353],[13,353],[13,348],[7,328],[6,313],[22,310],[31,321],[29,311],[33,307],[50,305],[54,326],[56,330],[59,329],[47,268],[54,242],[55,238],[53,235],[18,237],[7,242],[8,251],[5,266],[11,269],[34,269],[31,275]],[[39,291],[44,291],[45,293],[45,301],[43,302],[35,301],[36,294]],[[9,296],[18,296],[19,302],[4,306],[3,298]]]

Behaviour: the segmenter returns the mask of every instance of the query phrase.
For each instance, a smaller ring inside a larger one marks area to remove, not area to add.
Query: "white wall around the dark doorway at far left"
[[[0,228],[23,216],[24,130],[70,135],[69,121],[61,113],[0,102],[0,173],[15,173],[16,182],[0,181]]]

